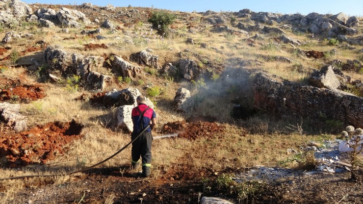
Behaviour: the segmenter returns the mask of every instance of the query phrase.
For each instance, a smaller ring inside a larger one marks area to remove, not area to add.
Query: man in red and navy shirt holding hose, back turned
[[[140,135],[132,143],[131,148],[131,165],[133,169],[136,169],[140,165],[140,155],[142,161],[142,176],[150,177],[151,167],[151,143],[153,141],[153,135],[151,130],[156,126],[156,113],[145,104],[145,97],[140,95],[136,99],[137,106],[132,109],[131,117],[133,123],[133,131],[131,134],[131,140],[133,140],[141,130],[150,125],[144,133]]]

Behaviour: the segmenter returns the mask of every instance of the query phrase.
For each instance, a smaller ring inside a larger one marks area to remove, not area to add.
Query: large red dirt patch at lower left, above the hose
[[[0,157],[5,156],[9,167],[32,163],[45,164],[65,152],[65,145],[81,137],[83,126],[51,122],[21,133],[0,132]]]

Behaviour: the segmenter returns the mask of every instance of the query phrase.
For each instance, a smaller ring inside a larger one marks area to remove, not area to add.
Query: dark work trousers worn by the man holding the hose
[[[132,133],[131,140],[138,134]],[[131,157],[132,161],[138,161],[141,155],[142,166],[151,166],[151,143],[153,142],[153,135],[151,132],[144,132],[141,136],[132,143]]]

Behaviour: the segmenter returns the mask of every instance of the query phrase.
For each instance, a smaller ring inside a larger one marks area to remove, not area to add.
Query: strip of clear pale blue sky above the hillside
[[[255,12],[273,12],[282,14],[311,12],[319,14],[338,14],[343,12],[349,16],[363,16],[363,0],[23,0],[30,3],[71,4],[84,2],[97,6],[112,4],[127,7],[154,7],[172,11],[204,12],[239,11],[249,8]]]

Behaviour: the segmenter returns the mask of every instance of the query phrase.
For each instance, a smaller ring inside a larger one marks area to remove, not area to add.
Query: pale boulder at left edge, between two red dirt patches
[[[11,127],[15,132],[21,132],[27,128],[26,117],[20,113],[20,104],[8,102],[0,103],[0,120]]]

